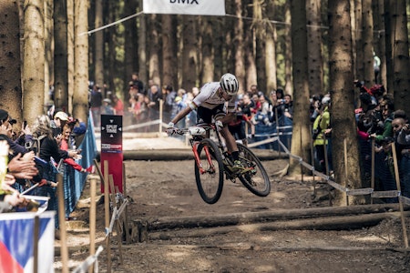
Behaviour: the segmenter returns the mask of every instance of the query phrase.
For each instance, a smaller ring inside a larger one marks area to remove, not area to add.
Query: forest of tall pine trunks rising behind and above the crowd
[[[407,110],[405,0],[227,0],[225,16],[148,15],[141,3],[0,0],[0,107],[30,124],[44,113],[52,85],[56,107],[87,120],[89,80],[127,98],[134,71],[146,84],[186,90],[229,71],[241,92],[257,84],[293,96],[292,154],[310,162],[309,97],[329,92],[336,182],[363,187],[353,82],[374,85],[375,53],[395,108]],[[344,150],[347,162],[337,152]],[[303,172],[297,166],[291,160],[290,171]]]

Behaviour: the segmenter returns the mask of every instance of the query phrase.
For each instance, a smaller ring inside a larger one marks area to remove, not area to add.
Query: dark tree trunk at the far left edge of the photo
[[[0,24],[0,109],[21,121],[20,24],[16,1],[0,0]]]

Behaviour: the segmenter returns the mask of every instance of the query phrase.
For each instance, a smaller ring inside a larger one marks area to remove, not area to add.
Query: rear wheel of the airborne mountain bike
[[[271,181],[265,168],[261,164],[261,160],[256,157],[248,147],[238,143],[238,148],[243,166],[250,168],[250,170],[238,176],[243,186],[258,197],[268,196],[271,192]]]

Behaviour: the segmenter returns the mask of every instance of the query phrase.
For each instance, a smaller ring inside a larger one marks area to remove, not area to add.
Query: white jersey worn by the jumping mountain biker
[[[191,108],[202,106],[205,108],[213,109],[216,106],[226,104],[227,101],[223,97],[220,97],[218,94],[219,88],[219,82],[212,82],[202,86],[202,88],[200,88],[200,94],[198,94],[198,96],[195,96],[192,100]],[[233,112],[235,108],[235,100],[236,96],[232,96],[231,100],[228,102],[228,112]]]

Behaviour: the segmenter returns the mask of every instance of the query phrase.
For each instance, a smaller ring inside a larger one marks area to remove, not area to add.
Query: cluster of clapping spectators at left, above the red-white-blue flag
[[[46,209],[57,212],[58,171],[62,170],[65,176],[74,170],[95,171],[94,167],[82,167],[77,163],[82,157],[77,140],[86,133],[86,124],[64,111],[49,114],[51,116],[37,116],[32,125],[22,122],[21,128],[15,128],[17,121],[0,109],[1,212],[36,211],[40,205],[36,196],[49,197]],[[73,183],[74,179],[64,180],[65,202],[72,194]],[[73,207],[66,209],[66,218],[69,218]],[[55,223],[58,229],[57,215]]]

